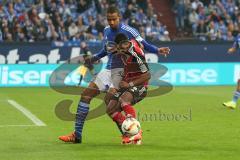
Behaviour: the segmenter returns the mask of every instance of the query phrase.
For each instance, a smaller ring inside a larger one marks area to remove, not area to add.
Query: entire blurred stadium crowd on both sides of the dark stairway
[[[172,1],[178,38],[232,41],[239,33],[240,0]],[[101,42],[109,5],[145,39],[170,41],[150,0],[0,0],[0,41]]]

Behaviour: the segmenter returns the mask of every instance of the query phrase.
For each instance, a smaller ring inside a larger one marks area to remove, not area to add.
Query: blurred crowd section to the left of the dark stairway
[[[170,40],[148,0],[2,0],[0,41],[101,41],[109,5],[144,38]]]

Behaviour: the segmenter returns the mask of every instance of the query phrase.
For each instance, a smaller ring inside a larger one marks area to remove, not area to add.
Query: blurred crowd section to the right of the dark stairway
[[[240,0],[175,0],[173,11],[180,37],[232,41],[240,31]]]

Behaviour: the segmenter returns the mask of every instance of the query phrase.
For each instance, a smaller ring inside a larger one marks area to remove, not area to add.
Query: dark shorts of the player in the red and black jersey
[[[129,92],[132,94],[133,96],[133,100],[132,100],[132,105],[140,102],[141,100],[143,100],[146,95],[147,95],[147,87],[145,86],[134,86],[134,87],[130,87],[126,90],[122,90],[119,91],[117,93],[114,94],[113,99],[118,100],[119,97],[121,97],[121,95],[125,92]]]

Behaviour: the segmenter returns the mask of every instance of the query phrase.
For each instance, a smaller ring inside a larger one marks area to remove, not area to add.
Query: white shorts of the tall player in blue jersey
[[[119,82],[122,80],[123,68],[103,69],[93,79],[100,91],[108,91],[109,88],[119,88]]]

